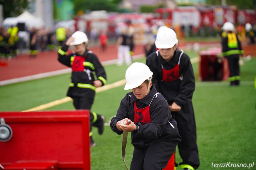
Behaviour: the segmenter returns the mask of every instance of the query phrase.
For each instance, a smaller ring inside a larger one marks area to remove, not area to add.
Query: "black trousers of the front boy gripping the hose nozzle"
[[[153,140],[147,148],[134,148],[131,170],[164,169],[177,146],[177,141]]]

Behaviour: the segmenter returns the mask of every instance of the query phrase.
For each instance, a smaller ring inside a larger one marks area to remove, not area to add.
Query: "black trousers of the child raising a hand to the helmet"
[[[77,96],[73,96],[72,98],[73,98],[74,107],[76,109],[88,109],[88,110],[90,110],[92,105],[93,105],[93,98],[77,97]],[[97,116],[97,120],[95,122],[93,122],[93,120],[96,119],[96,116]],[[90,122],[91,122],[90,128],[92,128],[92,126],[100,127],[102,125],[102,121],[103,121],[103,119],[101,118],[101,115],[96,114],[96,113],[93,114],[90,111]]]

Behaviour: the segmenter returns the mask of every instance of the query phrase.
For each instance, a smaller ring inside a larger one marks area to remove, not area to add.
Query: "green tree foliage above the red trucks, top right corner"
[[[206,4],[210,5],[221,5],[222,0],[206,0]],[[227,5],[235,5],[239,9],[255,9],[255,0],[226,0]]]

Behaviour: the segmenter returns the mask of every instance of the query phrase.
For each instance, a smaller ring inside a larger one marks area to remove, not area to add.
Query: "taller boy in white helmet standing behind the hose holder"
[[[182,139],[178,142],[182,158],[179,166],[184,170],[194,170],[200,162],[192,105],[195,77],[190,58],[182,50],[176,50],[177,35],[170,28],[163,28],[157,33],[155,45],[159,50],[147,57],[146,64],[154,73],[152,83],[171,106],[171,115],[178,125]]]

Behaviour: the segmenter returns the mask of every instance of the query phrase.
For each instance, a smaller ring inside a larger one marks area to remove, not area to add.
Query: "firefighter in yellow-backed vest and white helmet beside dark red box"
[[[235,26],[231,22],[225,22],[222,36],[222,55],[228,59],[230,86],[240,85],[239,56],[244,54],[241,42],[234,33]]]

